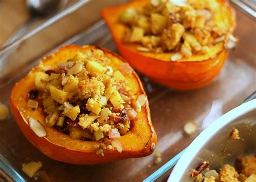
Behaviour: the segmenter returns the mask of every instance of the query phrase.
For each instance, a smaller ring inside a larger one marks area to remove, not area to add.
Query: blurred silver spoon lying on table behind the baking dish
[[[47,17],[58,9],[64,8],[68,0],[26,0],[26,6],[30,13],[30,18],[19,29],[5,41],[4,45],[13,43],[22,37],[29,26],[38,18]]]

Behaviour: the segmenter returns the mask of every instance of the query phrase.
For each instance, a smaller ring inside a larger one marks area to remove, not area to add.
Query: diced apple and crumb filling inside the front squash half
[[[55,68],[43,67],[48,70],[35,73],[36,89],[28,93],[27,103],[34,109],[42,103],[49,127],[74,139],[99,141],[101,155],[114,148],[122,152],[118,138],[130,130],[147,101],[145,95],[135,101],[126,85],[124,74],[131,74],[131,67],[124,63],[113,71],[109,62],[102,50],[91,50]]]

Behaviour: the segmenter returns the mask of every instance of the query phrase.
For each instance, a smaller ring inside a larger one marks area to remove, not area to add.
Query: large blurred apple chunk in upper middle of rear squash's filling
[[[167,25],[167,19],[158,13],[151,14],[151,29],[153,34],[161,33]]]

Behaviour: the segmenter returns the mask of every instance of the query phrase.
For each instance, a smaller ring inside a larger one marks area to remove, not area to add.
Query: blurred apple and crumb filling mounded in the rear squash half
[[[121,23],[128,25],[125,40],[139,43],[138,51],[177,52],[171,60],[206,54],[217,43],[230,39],[227,48],[235,46],[236,38],[228,33],[231,27],[216,21],[221,4],[216,0],[151,0],[143,8],[126,9]]]

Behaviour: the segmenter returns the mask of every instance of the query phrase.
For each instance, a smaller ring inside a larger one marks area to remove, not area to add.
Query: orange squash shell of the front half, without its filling
[[[64,46],[60,48],[56,53],[53,53],[52,55],[43,58],[42,62],[45,65],[53,65],[54,62],[60,62],[60,60],[66,61],[69,58],[72,58],[77,51],[85,52],[86,50],[95,48],[99,47],[90,45]],[[125,62],[125,60],[119,57],[119,55],[104,48],[99,49],[104,51],[107,57],[115,58],[117,62],[119,61],[119,64]],[[136,121],[132,121],[133,126],[131,130],[127,134],[119,138],[120,143],[122,143],[123,145],[122,153],[119,153],[117,150],[106,150],[104,151],[104,156],[97,155],[94,146],[99,142],[80,141],[79,139],[72,139],[70,136],[63,134],[55,128],[47,127],[44,123],[45,115],[43,111],[40,111],[38,109],[32,111],[32,109],[26,107],[27,100],[24,101],[20,99],[21,97],[24,98],[24,96],[26,98],[28,90],[35,88],[33,78],[35,76],[34,73],[38,69],[41,68],[39,68],[39,66],[33,68],[25,78],[15,84],[14,88],[11,91],[10,107],[12,110],[12,114],[18,124],[18,127],[21,129],[24,136],[30,141],[30,143],[32,143],[46,156],[50,157],[51,159],[70,164],[101,164],[126,158],[144,157],[150,155],[153,152],[151,150],[151,145],[153,143],[157,144],[157,136],[151,122],[148,102],[146,102],[146,106],[142,108],[142,111],[138,115]],[[132,74],[128,79],[131,80],[132,84],[136,84],[136,88],[138,89],[136,96],[140,94],[145,94],[142,83],[140,82],[138,75],[134,71],[132,71]],[[21,108],[24,108],[26,110],[25,114],[22,113]],[[26,119],[26,116],[35,118],[44,126],[46,130],[45,137],[38,137],[35,132],[30,129],[28,124],[28,118]],[[139,126],[142,123],[144,127],[140,128]],[[138,135],[139,131],[142,131],[142,136]],[[133,141],[132,144],[131,141]]]

